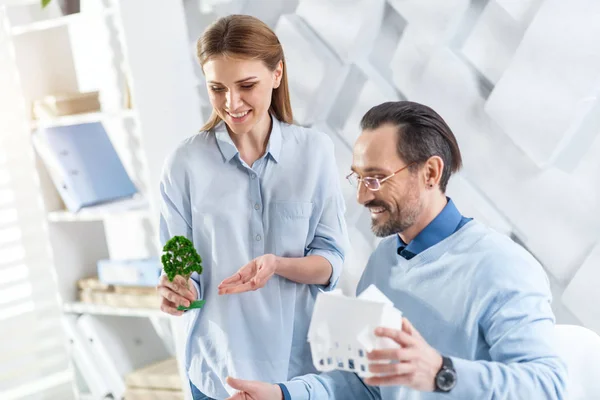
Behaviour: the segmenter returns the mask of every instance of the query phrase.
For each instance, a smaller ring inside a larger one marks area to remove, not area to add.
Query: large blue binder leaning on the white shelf
[[[33,140],[69,211],[137,192],[101,122],[40,128]]]

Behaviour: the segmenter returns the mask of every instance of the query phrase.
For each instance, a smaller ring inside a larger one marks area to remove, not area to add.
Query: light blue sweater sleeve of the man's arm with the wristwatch
[[[539,265],[520,266],[518,273],[492,272],[495,294],[479,324],[491,360],[452,358],[457,384],[448,399],[564,398],[566,367],[554,350],[547,277]]]

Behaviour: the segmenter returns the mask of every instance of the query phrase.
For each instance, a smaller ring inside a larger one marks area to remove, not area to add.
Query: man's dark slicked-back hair
[[[371,108],[360,121],[362,130],[384,124],[398,127],[398,155],[407,164],[418,166],[432,156],[444,161],[440,189],[445,193],[450,175],[462,166],[462,157],[456,137],[443,118],[419,103],[390,101]],[[414,171],[416,166],[411,169]]]

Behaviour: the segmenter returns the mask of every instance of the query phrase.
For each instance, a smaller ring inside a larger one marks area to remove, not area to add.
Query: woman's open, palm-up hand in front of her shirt
[[[217,287],[219,294],[243,293],[260,289],[275,274],[277,257],[265,254],[250,261]]]

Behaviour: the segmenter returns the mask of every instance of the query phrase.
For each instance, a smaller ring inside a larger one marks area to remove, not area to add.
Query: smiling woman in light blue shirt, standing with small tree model
[[[232,375],[268,382],[314,371],[308,325],[335,286],[347,243],[329,137],[292,124],[283,50],[268,26],[233,15],[198,40],[213,113],[166,162],[161,240],[190,238],[204,272],[159,284],[161,309],[188,311],[195,398],[225,398]]]

